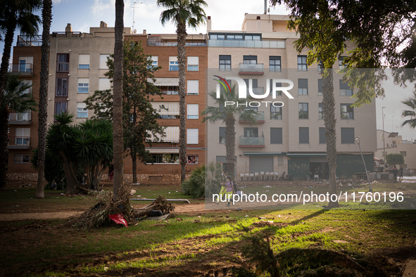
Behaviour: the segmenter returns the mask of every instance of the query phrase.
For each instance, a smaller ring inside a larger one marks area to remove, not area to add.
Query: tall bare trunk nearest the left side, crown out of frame
[[[43,31],[42,31],[42,60],[40,65],[40,89],[39,109],[37,113],[38,125],[38,158],[37,158],[37,188],[36,198],[44,198],[44,172],[45,172],[45,151],[46,151],[46,120],[48,116],[48,80],[49,80],[49,30],[52,20],[52,1],[44,0],[42,9]]]

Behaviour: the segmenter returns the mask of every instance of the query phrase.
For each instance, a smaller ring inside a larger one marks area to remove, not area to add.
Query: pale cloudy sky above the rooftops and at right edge
[[[267,3],[269,1],[267,0]],[[206,15],[211,16],[212,30],[241,30],[244,13],[263,13],[264,0],[206,0],[208,7]],[[268,4],[267,4],[268,5]],[[133,8],[134,7],[134,8]],[[288,14],[284,6],[269,7],[270,14]],[[175,33],[175,26],[168,23],[160,24],[159,18],[163,8],[158,8],[156,0],[125,0],[125,27],[133,27],[137,33],[146,30],[148,34]],[[39,15],[41,11],[37,12]],[[114,27],[115,0],[53,0],[53,18],[51,32],[64,32],[68,23],[71,23],[74,32],[89,32],[89,27],[99,27],[100,21],[105,21],[108,27]],[[42,26],[39,33],[42,33]],[[188,30],[188,34],[206,34],[206,26],[197,30]],[[16,34],[17,37],[17,34]],[[15,41],[13,41],[15,45]],[[0,42],[0,58],[4,44]],[[412,96],[412,89],[403,89],[386,84],[386,98],[377,99],[377,129],[382,126],[382,107],[384,108],[384,129],[398,131],[403,139],[416,140],[416,130],[400,127],[403,118],[401,113],[405,105],[401,103],[405,98]]]

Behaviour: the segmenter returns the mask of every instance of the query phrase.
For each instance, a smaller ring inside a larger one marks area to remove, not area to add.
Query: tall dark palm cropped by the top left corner
[[[40,0],[0,0],[0,6],[0,32],[4,34],[4,49],[0,65],[0,105],[7,105],[7,102],[4,102],[4,96],[1,92],[4,91],[6,82],[8,82],[8,60],[10,60],[14,33],[16,28],[20,29],[20,32],[23,34],[34,35],[37,33],[40,18],[32,12],[40,7]],[[0,118],[1,122],[6,120],[7,124],[6,114],[0,114]],[[1,125],[1,127],[4,127],[4,125]],[[8,157],[6,135],[2,134],[0,138],[0,188],[6,186]]]

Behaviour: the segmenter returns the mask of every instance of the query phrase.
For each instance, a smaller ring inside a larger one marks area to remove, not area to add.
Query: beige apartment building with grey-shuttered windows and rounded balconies
[[[236,176],[286,172],[300,179],[317,167],[321,178],[328,174],[322,77],[317,65],[306,64],[306,51],[297,53],[294,49],[298,37],[286,29],[287,20],[284,15],[246,14],[241,31],[234,32],[210,30],[208,19],[208,91],[220,89],[214,80],[219,76],[231,86],[244,80],[258,98],[252,98],[254,102],[246,107],[258,112],[257,124],[237,120]],[[334,70],[341,67],[342,56]],[[377,149],[375,103],[353,108],[354,91],[341,79],[334,71],[336,174],[350,176],[364,172],[355,137],[360,137],[367,169],[373,168]],[[287,87],[286,80],[293,83],[287,92],[294,98],[283,90],[273,98],[273,85]],[[270,92],[265,95],[267,87]],[[215,101],[207,98],[207,103],[214,105]],[[225,162],[225,124],[208,124],[207,134],[207,162]]]

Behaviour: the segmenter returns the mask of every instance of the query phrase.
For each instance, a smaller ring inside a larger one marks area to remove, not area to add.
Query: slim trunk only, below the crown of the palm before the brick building
[[[181,182],[185,181],[187,165],[187,124],[186,124],[186,92],[185,92],[185,66],[186,66],[186,49],[185,39],[187,37],[187,27],[181,22],[177,21],[177,61],[179,67],[179,161],[181,165]]]

